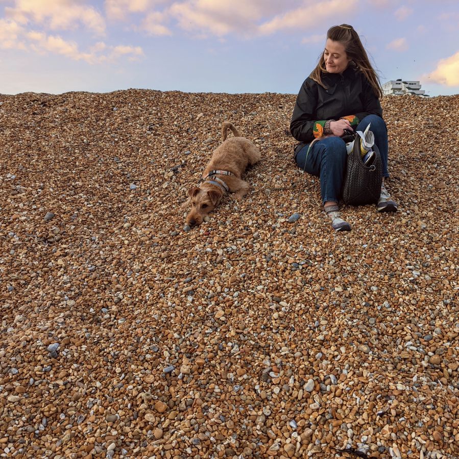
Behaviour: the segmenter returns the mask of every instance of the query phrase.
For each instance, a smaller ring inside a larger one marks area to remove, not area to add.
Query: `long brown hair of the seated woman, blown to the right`
[[[350,59],[349,65],[355,65],[365,75],[376,96],[381,98],[384,93],[382,92],[378,75],[370,64],[364,45],[352,25],[333,25],[328,29],[327,39],[339,41],[344,46],[347,57]],[[326,71],[324,54],[322,53],[316,68],[312,70],[309,77],[322,87],[325,87],[322,83],[322,72]]]

